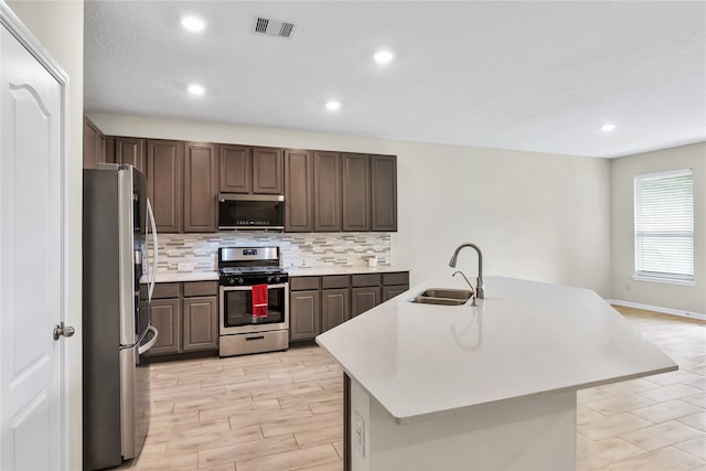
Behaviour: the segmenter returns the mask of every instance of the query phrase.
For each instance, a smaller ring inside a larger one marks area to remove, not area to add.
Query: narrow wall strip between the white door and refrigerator
[[[10,9],[68,74],[68,312],[76,335],[67,342],[69,367],[68,469],[82,468],[81,228],[84,108],[84,2],[8,1]]]

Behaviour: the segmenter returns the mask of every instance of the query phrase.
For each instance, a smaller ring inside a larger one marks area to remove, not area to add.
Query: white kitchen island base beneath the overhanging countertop
[[[353,471],[567,470],[576,467],[576,392],[398,425],[351,379]],[[364,452],[355,443],[364,421]]]

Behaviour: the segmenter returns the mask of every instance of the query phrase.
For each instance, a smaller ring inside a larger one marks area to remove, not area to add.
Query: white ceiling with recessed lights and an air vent
[[[86,1],[85,11],[88,113],[592,157],[706,140],[705,1]],[[183,30],[186,13],[206,29]],[[254,33],[257,17],[296,23],[291,38]],[[387,66],[372,61],[382,46],[396,54]],[[206,94],[189,96],[192,82]]]

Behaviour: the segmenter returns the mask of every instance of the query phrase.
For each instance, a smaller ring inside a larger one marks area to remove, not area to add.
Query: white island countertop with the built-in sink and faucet
[[[317,336],[398,424],[677,370],[591,290],[488,277],[475,308],[407,302],[428,288],[467,285],[425,282]]]

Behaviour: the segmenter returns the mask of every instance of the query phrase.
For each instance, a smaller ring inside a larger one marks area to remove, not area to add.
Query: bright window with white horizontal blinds
[[[638,175],[635,277],[694,280],[694,184],[692,170]]]

